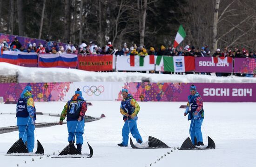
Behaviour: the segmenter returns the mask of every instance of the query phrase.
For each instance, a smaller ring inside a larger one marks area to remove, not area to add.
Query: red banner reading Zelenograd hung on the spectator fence
[[[78,69],[86,71],[112,71],[113,55],[78,55]],[[114,65],[115,69],[115,65]]]

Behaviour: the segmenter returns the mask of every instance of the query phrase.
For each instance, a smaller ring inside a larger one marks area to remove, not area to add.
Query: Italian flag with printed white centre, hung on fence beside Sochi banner
[[[185,72],[195,70],[193,56],[163,56],[163,69],[168,72]]]

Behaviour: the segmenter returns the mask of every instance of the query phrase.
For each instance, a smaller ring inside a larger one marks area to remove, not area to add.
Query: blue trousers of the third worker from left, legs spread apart
[[[129,121],[129,122],[128,122]],[[130,128],[129,128],[130,127]],[[130,129],[130,130],[129,130]],[[133,135],[137,142],[142,141],[141,135],[137,128],[137,122],[135,120],[126,120],[122,128],[123,146],[128,146],[129,133]]]

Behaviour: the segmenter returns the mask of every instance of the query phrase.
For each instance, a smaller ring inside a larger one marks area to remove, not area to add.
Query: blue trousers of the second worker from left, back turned
[[[83,144],[84,120],[81,120],[80,122],[67,121],[67,131],[68,131],[68,137],[67,137],[68,142],[74,141],[73,138],[75,139],[76,137],[76,144]]]

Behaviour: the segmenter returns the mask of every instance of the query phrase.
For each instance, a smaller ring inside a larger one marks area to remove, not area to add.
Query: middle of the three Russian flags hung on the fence
[[[18,65],[36,67],[37,59],[37,53],[35,52],[19,52]]]

